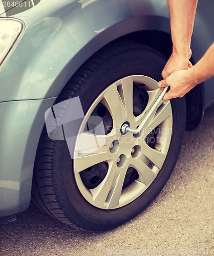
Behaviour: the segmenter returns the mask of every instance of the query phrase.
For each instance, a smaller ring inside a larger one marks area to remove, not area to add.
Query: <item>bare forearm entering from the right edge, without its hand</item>
[[[214,75],[214,43],[194,67],[188,70],[189,81],[199,84]]]

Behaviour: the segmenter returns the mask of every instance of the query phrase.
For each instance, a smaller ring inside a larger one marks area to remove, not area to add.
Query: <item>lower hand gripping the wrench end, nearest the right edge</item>
[[[183,97],[192,88],[194,88],[196,84],[194,80],[191,79],[191,69],[189,69],[175,71],[166,79],[158,82],[158,86],[161,88],[170,86],[170,90],[163,97],[163,100],[169,100],[177,97]]]

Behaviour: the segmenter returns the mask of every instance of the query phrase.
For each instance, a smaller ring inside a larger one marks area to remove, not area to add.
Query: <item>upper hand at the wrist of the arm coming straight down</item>
[[[189,53],[186,54],[186,56],[173,52],[161,73],[162,77],[166,79],[170,74],[177,70],[190,69],[192,67],[191,62],[189,61],[190,57],[190,49]]]

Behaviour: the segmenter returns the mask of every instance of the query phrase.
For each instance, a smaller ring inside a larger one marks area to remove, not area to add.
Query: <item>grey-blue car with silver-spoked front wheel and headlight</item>
[[[122,132],[138,127],[159,95],[172,53],[167,1],[2,3],[0,222],[31,198],[84,230],[131,220],[173,172],[185,130],[214,102],[214,79],[161,101],[141,132]],[[199,1],[192,63],[214,41],[213,8]]]

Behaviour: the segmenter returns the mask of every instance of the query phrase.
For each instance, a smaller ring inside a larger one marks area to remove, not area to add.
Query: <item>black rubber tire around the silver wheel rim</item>
[[[159,81],[166,59],[157,51],[131,41],[115,41],[94,54],[76,72],[55,103],[79,96],[84,113],[111,83],[142,74]],[[88,203],[75,183],[66,141],[49,139],[44,128],[35,158],[33,199],[49,215],[71,226],[100,231],[112,229],[138,215],[160,193],[179,156],[185,130],[185,99],[171,100],[173,134],[162,169],[136,200],[121,208],[104,210]]]

